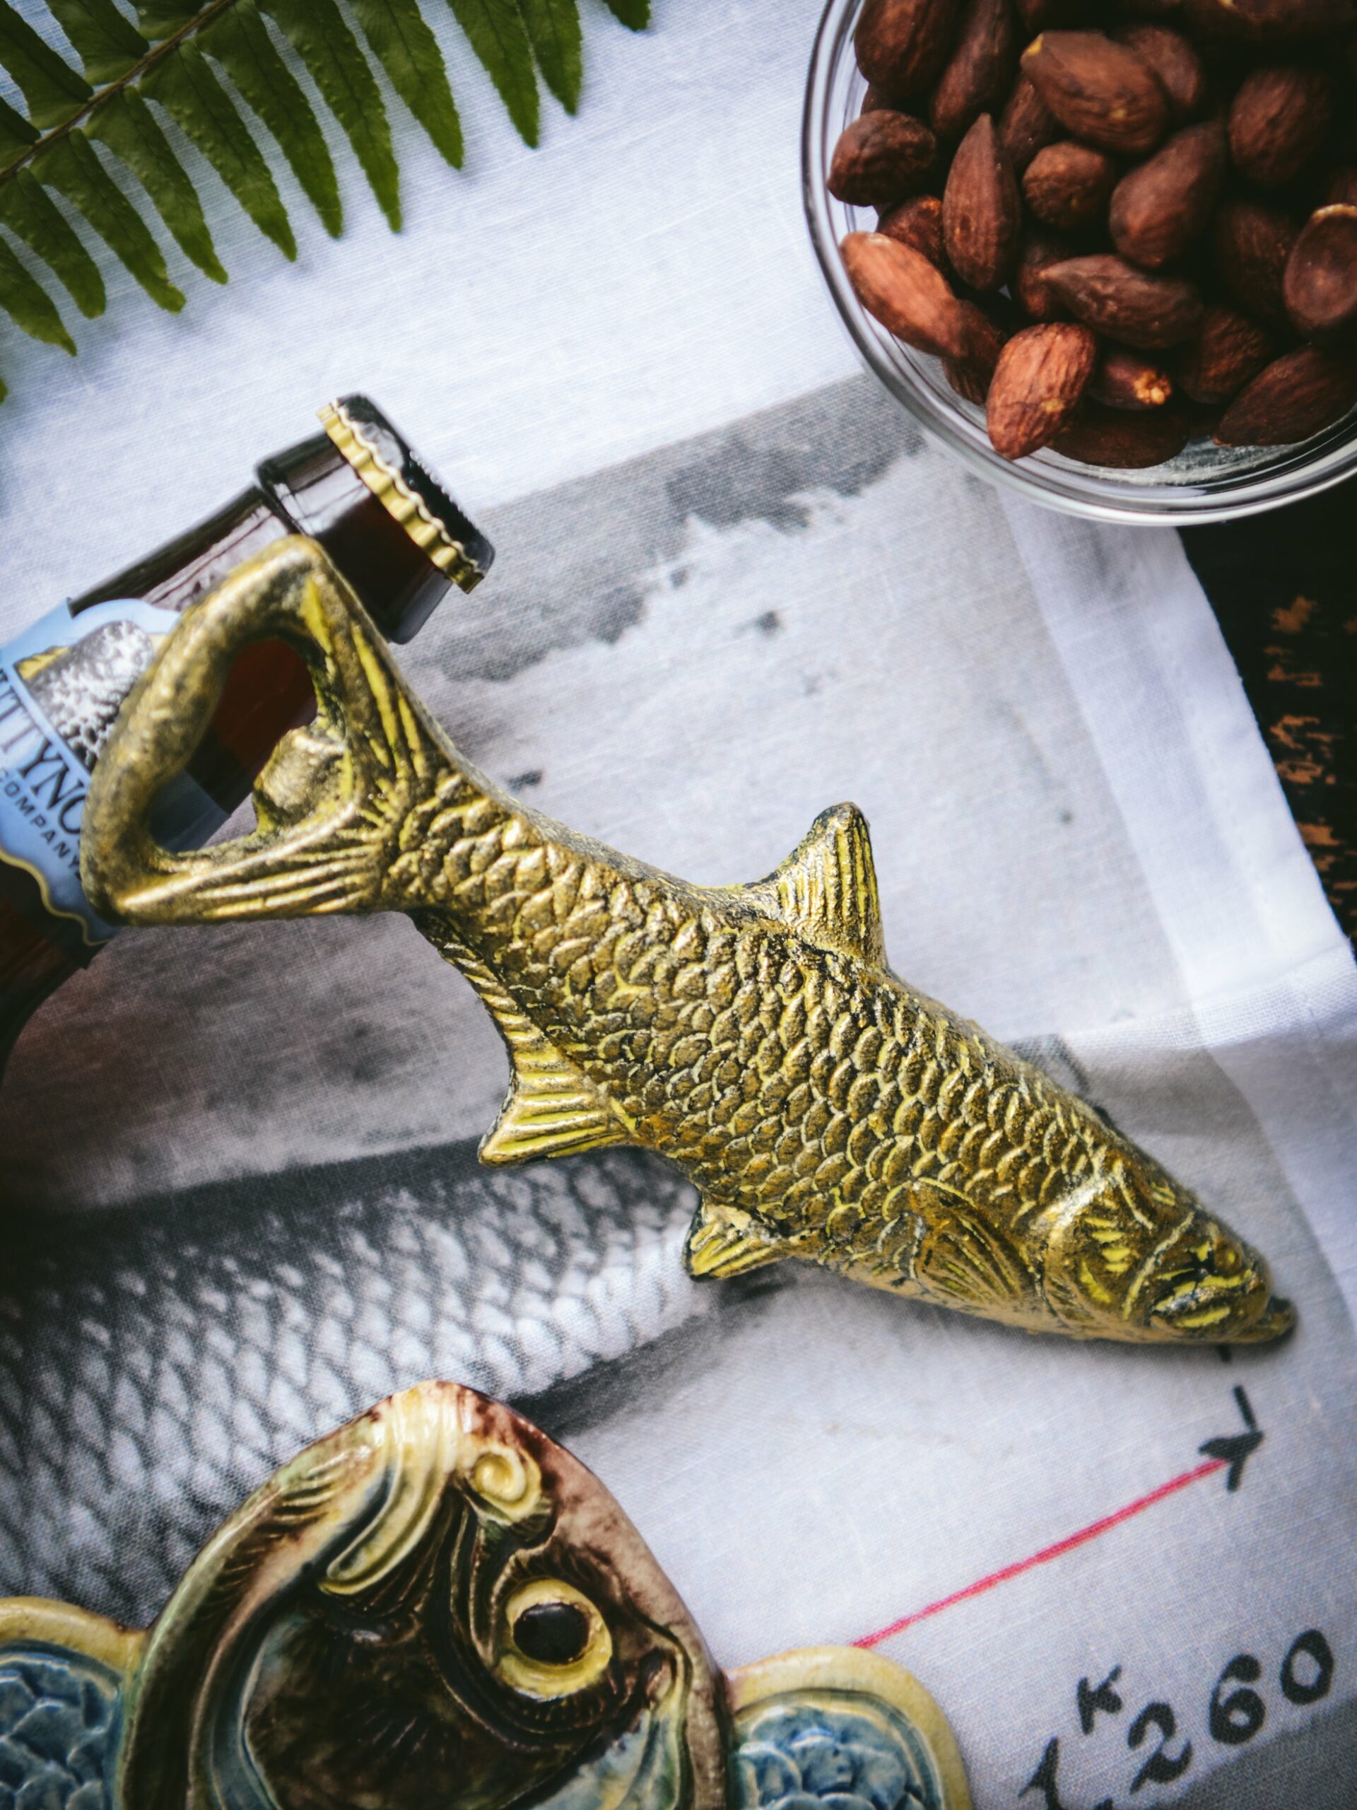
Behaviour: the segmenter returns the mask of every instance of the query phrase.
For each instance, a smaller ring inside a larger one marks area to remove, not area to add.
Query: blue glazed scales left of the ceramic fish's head
[[[0,1810],[107,1810],[114,1703],[94,1665],[0,1654]]]

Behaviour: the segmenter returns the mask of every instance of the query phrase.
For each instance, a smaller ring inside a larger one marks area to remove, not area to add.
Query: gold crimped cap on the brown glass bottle
[[[461,590],[474,590],[494,561],[494,547],[431,476],[409,443],[367,396],[340,396],[320,409],[320,424],[431,565]]]

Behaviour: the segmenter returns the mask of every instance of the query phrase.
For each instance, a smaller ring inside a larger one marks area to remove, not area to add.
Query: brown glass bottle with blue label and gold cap
[[[378,628],[409,641],[451,585],[470,590],[494,559],[365,396],[346,396],[320,418],[326,433],[264,460],[255,483],[215,516],[0,648],[0,1070],[42,1001],[112,934],[83,896],[71,896],[83,776],[150,637],[172,621],[161,612],[188,608],[270,541],[309,534]],[[98,617],[87,614],[101,605]],[[128,608],[119,614],[119,605]],[[33,635],[36,652],[25,648]],[[166,800],[163,840],[206,840],[248,796],[279,737],[313,708],[297,653],[277,641],[248,648],[194,758],[192,784]]]

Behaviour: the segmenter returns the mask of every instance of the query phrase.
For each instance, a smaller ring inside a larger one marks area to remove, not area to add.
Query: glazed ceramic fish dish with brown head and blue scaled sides
[[[604,1486],[456,1383],[309,1446],[134,1633],[0,1602],[24,1810],[970,1810],[908,1672],[733,1674]],[[811,1801],[807,1801],[811,1799]]]

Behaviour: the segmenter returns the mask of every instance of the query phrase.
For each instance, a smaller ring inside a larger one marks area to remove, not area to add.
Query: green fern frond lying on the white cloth
[[[203,199],[157,110],[181,127],[284,257],[297,255],[297,239],[270,168],[275,152],[291,167],[326,232],[342,230],[340,185],[326,134],[271,27],[306,67],[382,212],[393,230],[400,228],[391,121],[338,0],[136,0],[136,25],[118,0],[45,4],[78,69],[11,0],[0,0],[0,69],[25,109],[0,100],[0,311],[33,338],[76,351],[47,273],[81,315],[100,315],[107,302],[100,266],[49,190],[103,239],[152,300],[170,311],[185,304],[156,235],[96,143],[152,203],[185,257],[214,282],[226,281]],[[346,4],[396,94],[458,168],[461,119],[423,13],[427,0]],[[539,132],[539,72],[565,110],[575,110],[584,67],[579,0],[447,4],[528,145]],[[633,31],[650,24],[650,0],[604,5]],[[4,396],[0,382],[0,402]]]

